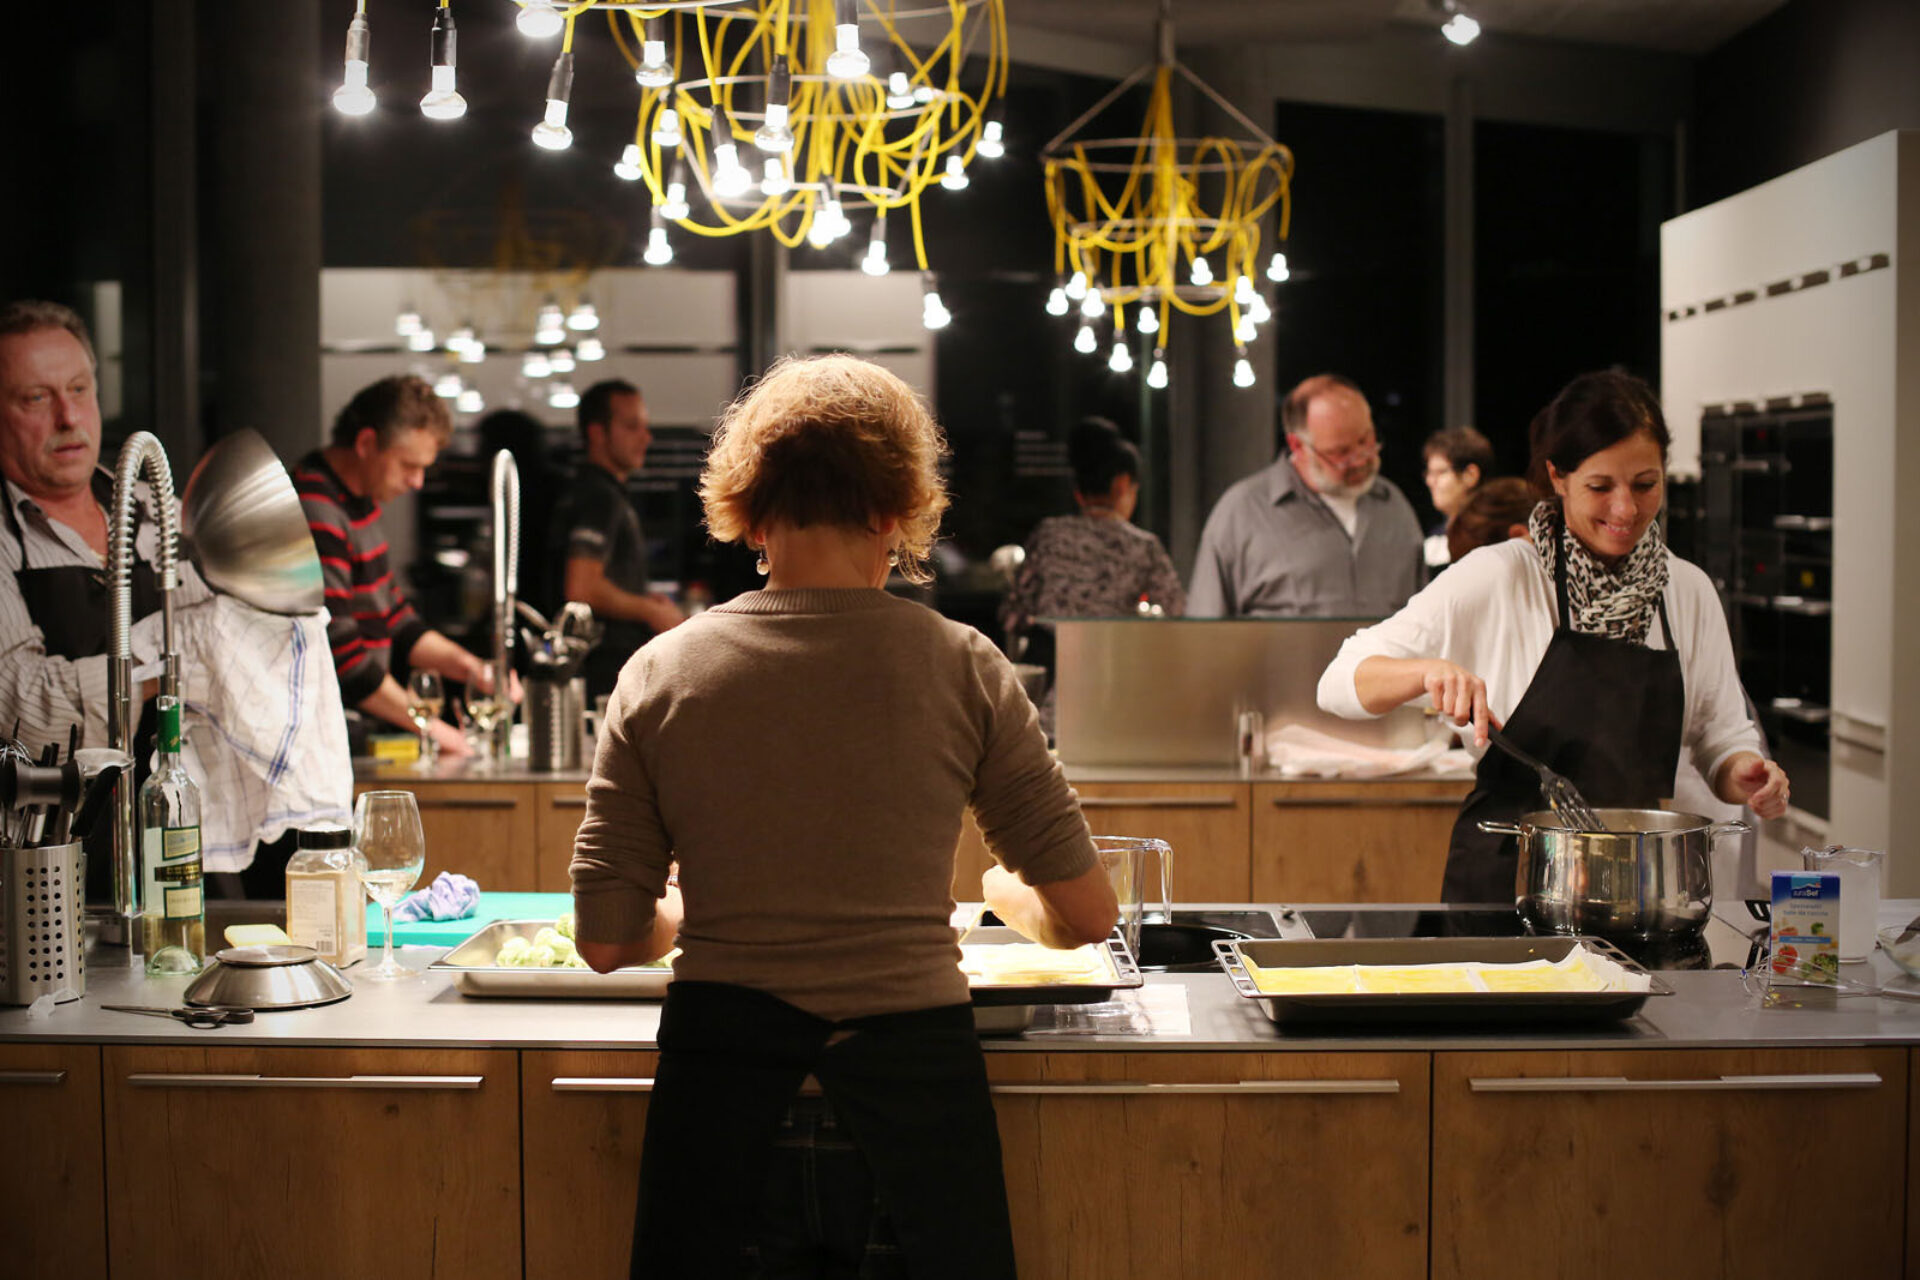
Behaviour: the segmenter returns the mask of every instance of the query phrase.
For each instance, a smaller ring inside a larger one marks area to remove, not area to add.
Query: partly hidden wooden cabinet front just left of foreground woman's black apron
[[[526,1280],[624,1276],[659,1054],[520,1055]]]

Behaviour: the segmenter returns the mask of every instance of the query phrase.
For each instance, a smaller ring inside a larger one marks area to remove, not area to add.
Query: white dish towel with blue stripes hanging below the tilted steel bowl
[[[175,616],[173,643],[180,760],[200,783],[202,865],[244,871],[259,841],[351,823],[353,756],[326,610],[288,618],[215,595]]]

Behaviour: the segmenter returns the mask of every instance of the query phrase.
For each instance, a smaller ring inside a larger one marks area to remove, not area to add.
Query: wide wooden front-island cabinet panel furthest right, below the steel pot
[[[1432,1276],[1893,1276],[1905,1050],[1434,1054]]]

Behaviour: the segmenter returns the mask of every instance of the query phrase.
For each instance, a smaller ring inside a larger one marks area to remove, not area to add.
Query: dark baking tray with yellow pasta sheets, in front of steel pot
[[[1407,992],[1407,994],[1271,994],[1254,986],[1242,958],[1261,969],[1332,965],[1436,965],[1496,963],[1528,960],[1559,961],[1574,946],[1586,944],[1628,973],[1645,975],[1647,990],[1521,990],[1521,992]],[[1586,936],[1540,938],[1248,938],[1215,942],[1219,963],[1235,990],[1260,1004],[1261,1013],[1281,1027],[1313,1023],[1407,1023],[1448,1025],[1540,1025],[1592,1023],[1632,1017],[1647,996],[1670,996],[1674,988],[1611,942]]]

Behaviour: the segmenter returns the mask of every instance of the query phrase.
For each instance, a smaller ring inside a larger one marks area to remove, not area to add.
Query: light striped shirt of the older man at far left
[[[0,733],[13,727],[19,718],[19,741],[31,750],[42,743],[65,743],[67,727],[81,725],[83,747],[108,745],[108,658],[56,658],[46,652],[46,635],[27,612],[27,601],[19,593],[13,578],[21,570],[21,547],[27,551],[27,564],[33,568],[83,566],[106,574],[106,564],[77,530],[52,520],[36,501],[27,497],[13,482],[0,482],[6,503],[13,510],[19,533],[0,520]],[[113,501],[113,476],[94,472],[94,497],[100,509],[109,510]],[[142,482],[134,487],[134,505],[140,512],[154,509],[154,493]],[[159,547],[159,530],[152,520],[138,520],[134,532],[134,555],[146,564],[154,562]],[[207,585],[194,572],[182,553],[179,557],[180,585],[175,587],[175,608],[186,608],[209,599]],[[129,631],[129,649],[134,668],[159,656],[159,614],[136,618]]]

